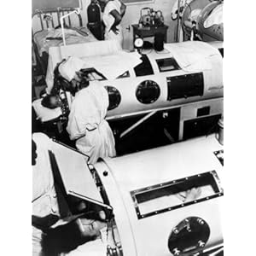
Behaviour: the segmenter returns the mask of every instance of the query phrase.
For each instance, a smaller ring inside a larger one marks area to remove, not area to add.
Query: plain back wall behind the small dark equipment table
[[[166,26],[169,26],[167,30],[167,42],[168,43],[174,42],[176,20],[172,20],[172,17],[171,17],[172,6],[174,3],[175,3],[175,0],[154,0],[154,3],[127,4],[125,16],[121,22],[121,25],[123,27],[123,33],[124,33],[124,45],[123,45],[124,48],[129,50],[133,49],[131,25],[138,23],[140,19],[141,9],[145,7],[162,11],[165,19],[165,24]],[[87,24],[87,7],[89,4],[90,4],[90,0],[82,0],[83,9],[81,13],[83,16],[83,23],[85,25]],[[129,30],[129,27],[130,27],[130,30]]]

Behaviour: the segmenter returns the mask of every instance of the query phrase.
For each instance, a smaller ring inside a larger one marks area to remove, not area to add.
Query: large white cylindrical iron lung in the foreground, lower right
[[[191,255],[222,244],[221,155],[212,135],[96,163],[125,256]],[[177,198],[195,188],[201,195]]]

